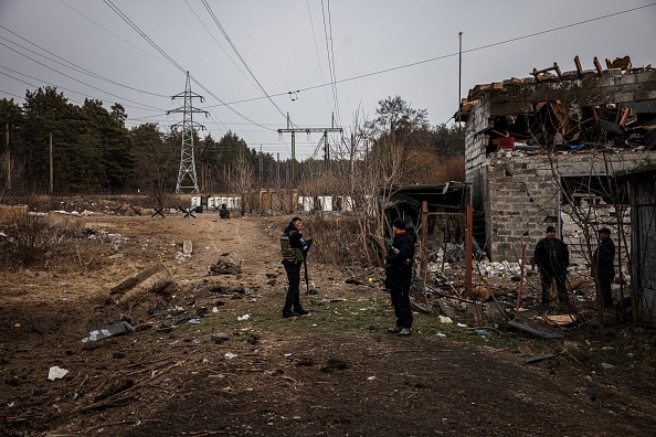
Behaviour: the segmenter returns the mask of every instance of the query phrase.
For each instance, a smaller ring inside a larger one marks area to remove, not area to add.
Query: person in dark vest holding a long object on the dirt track
[[[303,309],[300,306],[299,286],[300,266],[305,263],[313,238],[304,238],[300,231],[303,231],[303,220],[300,217],[294,217],[283,232],[283,235],[281,235],[283,266],[285,266],[289,283],[287,296],[285,297],[285,306],[283,307],[283,317],[285,318],[309,313],[309,311]]]

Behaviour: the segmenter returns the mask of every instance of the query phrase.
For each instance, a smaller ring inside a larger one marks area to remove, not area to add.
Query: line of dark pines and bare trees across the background
[[[199,189],[241,194],[297,188],[330,180],[335,171],[362,171],[368,160],[380,164],[369,170],[395,183],[464,179],[459,126],[431,127],[425,110],[413,109],[398,96],[379,105],[373,120],[356,117],[351,134],[329,145],[329,160],[279,161],[250,148],[234,132],[214,139],[194,131]],[[126,119],[118,103],[109,110],[89,98],[75,105],[50,86],[28,90],[22,105],[0,99],[0,126],[7,134],[0,195],[174,192],[182,132],[154,122],[127,128]]]

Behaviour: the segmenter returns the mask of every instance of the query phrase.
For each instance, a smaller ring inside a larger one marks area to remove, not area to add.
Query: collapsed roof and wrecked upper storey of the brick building
[[[553,63],[531,77],[477,85],[456,120],[476,121],[475,134],[489,136],[487,152],[501,137],[526,150],[656,150],[656,68],[634,67],[628,56],[605,62],[604,70],[595,57],[595,70],[584,71],[576,56],[575,71]]]

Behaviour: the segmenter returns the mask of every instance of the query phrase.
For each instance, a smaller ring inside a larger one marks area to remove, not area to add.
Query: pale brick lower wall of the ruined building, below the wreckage
[[[554,162],[558,160],[558,162]],[[485,192],[486,237],[494,262],[518,260],[522,244],[527,260],[532,258],[535,245],[546,236],[547,226],[562,228],[562,239],[570,245],[572,262],[588,264],[588,238],[596,247],[596,230],[606,226],[617,235],[617,217],[623,231],[631,233],[631,211],[616,211],[611,205],[591,204],[579,199],[578,218],[561,195],[560,177],[605,174],[605,169],[621,171],[656,160],[656,153],[562,153],[552,154],[500,152],[489,156],[483,167],[487,181]],[[570,172],[568,172],[570,171]],[[582,226],[589,226],[584,232]]]

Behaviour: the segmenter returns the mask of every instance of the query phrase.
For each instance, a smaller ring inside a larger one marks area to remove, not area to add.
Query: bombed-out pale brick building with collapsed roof
[[[618,173],[656,162],[656,70],[628,56],[594,70],[558,64],[477,85],[458,111],[474,232],[490,260],[527,260],[554,225],[573,262],[589,264],[600,227],[629,253],[628,189]],[[627,235],[627,238],[623,236]]]

